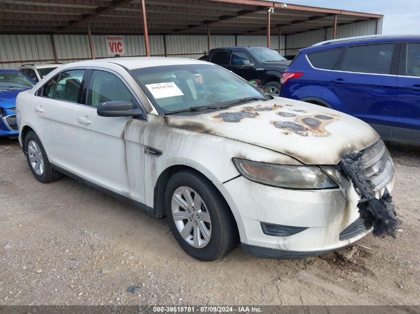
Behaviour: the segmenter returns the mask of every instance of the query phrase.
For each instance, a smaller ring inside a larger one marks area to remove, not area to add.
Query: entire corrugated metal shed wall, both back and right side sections
[[[382,20],[379,33],[382,31]],[[337,27],[337,38],[376,33],[376,20],[358,22]],[[317,42],[330,39],[333,28],[316,30],[295,35],[281,36],[281,53],[297,54],[299,49]],[[97,58],[106,58],[106,41],[104,35],[93,35],[93,46]],[[170,57],[198,59],[208,52],[206,35],[168,35],[167,53]],[[267,44],[266,36],[238,36],[238,46],[262,46]],[[164,37],[149,36],[152,55],[164,56]],[[57,58],[61,63],[90,59],[89,40],[87,35],[54,35]],[[285,47],[285,42],[287,47]],[[52,63],[54,54],[49,35],[0,35],[0,68],[18,68],[22,63]],[[144,56],[144,37],[142,35],[124,35],[125,56]],[[235,46],[235,36],[211,36],[210,48]],[[278,49],[278,36],[271,36],[270,46]],[[287,48],[285,51],[284,49]]]

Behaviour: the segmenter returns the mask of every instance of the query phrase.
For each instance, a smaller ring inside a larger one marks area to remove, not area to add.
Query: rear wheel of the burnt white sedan
[[[34,131],[26,134],[24,148],[26,160],[36,180],[50,183],[63,177],[60,172],[51,168],[44,147]]]

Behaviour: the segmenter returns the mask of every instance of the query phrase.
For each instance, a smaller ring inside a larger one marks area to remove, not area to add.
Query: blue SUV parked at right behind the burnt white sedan
[[[281,96],[336,109],[383,139],[420,143],[420,36],[365,36],[300,50]]]

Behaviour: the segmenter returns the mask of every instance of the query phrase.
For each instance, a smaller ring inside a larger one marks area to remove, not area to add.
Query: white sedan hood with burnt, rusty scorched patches
[[[378,133],[359,119],[286,98],[165,119],[169,126],[258,145],[305,164],[336,165],[343,154],[362,150],[379,139]]]

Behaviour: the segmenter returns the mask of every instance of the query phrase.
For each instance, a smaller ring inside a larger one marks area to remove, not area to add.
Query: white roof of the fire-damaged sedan
[[[178,64],[209,64],[205,61],[186,59],[186,58],[168,58],[168,57],[121,57],[121,58],[106,58],[85,60],[75,63],[68,63],[71,66],[102,66],[100,63],[114,63],[119,64],[129,70],[135,68],[161,66],[161,65],[178,65]]]

